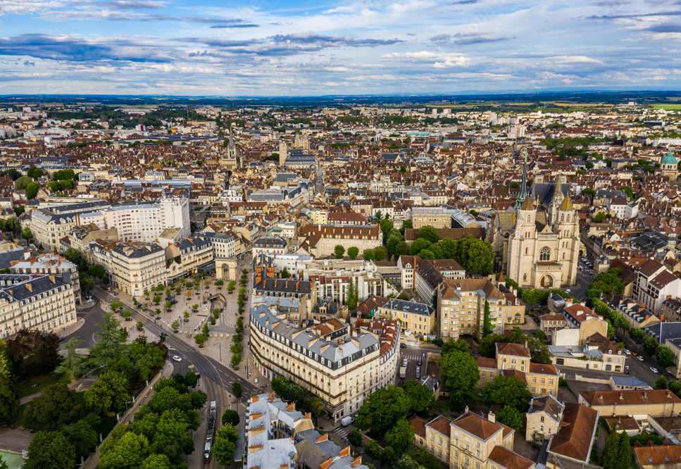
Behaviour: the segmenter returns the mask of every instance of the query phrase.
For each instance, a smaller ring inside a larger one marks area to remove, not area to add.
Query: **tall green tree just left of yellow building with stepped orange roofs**
[[[466,352],[451,350],[440,360],[442,382],[451,389],[449,407],[462,411],[469,403],[477,401],[477,380],[480,370],[475,358]]]

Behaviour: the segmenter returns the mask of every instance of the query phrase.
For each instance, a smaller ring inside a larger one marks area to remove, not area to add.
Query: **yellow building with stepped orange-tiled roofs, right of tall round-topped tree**
[[[496,360],[493,358],[475,358],[480,368],[480,379],[477,387],[485,388],[499,375],[517,377],[527,385],[532,396],[558,395],[558,371],[554,365],[532,363],[530,351],[522,344],[496,343]]]

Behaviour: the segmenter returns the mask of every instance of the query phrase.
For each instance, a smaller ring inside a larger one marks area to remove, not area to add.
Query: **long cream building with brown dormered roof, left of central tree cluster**
[[[383,245],[383,232],[377,225],[306,225],[300,230],[298,239],[301,245],[299,254],[315,257],[332,256],[336,246],[347,252],[351,247],[362,254],[366,249]]]

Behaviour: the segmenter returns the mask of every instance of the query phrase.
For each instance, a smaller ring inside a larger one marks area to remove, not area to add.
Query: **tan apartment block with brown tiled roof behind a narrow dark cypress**
[[[444,279],[437,294],[440,335],[454,340],[462,334],[482,337],[485,301],[494,332],[525,323],[525,304],[512,292],[502,293],[487,279]]]

